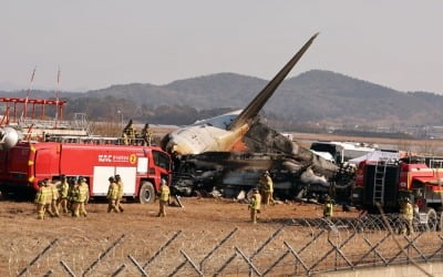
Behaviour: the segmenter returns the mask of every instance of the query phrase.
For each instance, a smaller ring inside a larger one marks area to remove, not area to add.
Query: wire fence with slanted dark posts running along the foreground
[[[400,228],[395,216],[389,217]],[[255,228],[16,237],[9,276],[280,276],[443,259],[443,236],[390,233],[380,216],[281,219]],[[396,243],[400,243],[400,248]]]

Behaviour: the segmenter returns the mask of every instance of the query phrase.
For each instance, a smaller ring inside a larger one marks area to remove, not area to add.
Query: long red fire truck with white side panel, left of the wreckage
[[[119,174],[124,196],[151,203],[161,179],[171,182],[171,157],[157,146],[115,145],[110,141],[20,142],[0,151],[0,191],[24,195],[38,182],[64,174],[85,177],[92,197],[105,196],[110,176]]]

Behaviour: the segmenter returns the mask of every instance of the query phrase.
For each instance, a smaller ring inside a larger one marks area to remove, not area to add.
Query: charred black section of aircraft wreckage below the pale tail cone
[[[339,188],[346,198],[353,177],[259,121],[245,135],[246,152],[205,152],[175,157],[173,189],[184,195],[236,196],[269,171],[279,198],[321,196]]]

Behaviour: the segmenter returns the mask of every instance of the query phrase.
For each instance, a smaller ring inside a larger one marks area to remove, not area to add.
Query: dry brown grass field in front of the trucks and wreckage
[[[249,223],[249,213],[246,204],[231,199],[214,198],[184,198],[185,208],[168,207],[167,217],[156,217],[157,205],[126,204],[124,214],[107,214],[106,204],[89,204],[87,218],[48,218],[37,220],[34,207],[30,203],[0,202],[0,276],[16,276],[22,268],[50,245],[59,239],[27,271],[27,276],[42,276],[50,269],[53,276],[64,276],[65,271],[60,261],[65,263],[76,276],[91,267],[94,260],[109,249],[122,235],[119,243],[103,259],[92,268],[89,276],[110,276],[123,264],[126,268],[119,276],[140,276],[140,271],[128,259],[134,257],[144,265],[155,253],[177,232],[177,238],[162,252],[152,264],[146,267],[150,276],[166,276],[174,271],[183,261],[186,253],[199,266],[199,261],[210,253],[230,232],[238,228],[234,235],[215,252],[202,266],[205,273],[219,269],[238,247],[247,256],[251,256],[262,246],[270,236],[276,235],[254,259],[260,273],[269,268],[288,248],[285,242],[296,249],[303,263],[313,266],[323,255],[352,236],[352,232],[324,232],[312,244],[301,252],[320,233],[319,229],[307,226],[285,226],[281,219],[293,217],[320,217],[321,206],[315,204],[287,203],[266,207],[260,214],[260,223]],[[357,213],[336,211],[337,216],[356,216]],[[281,228],[281,229],[280,229]],[[384,232],[369,232],[353,236],[342,248],[346,256],[357,261],[371,246],[364,242],[369,239],[377,244]],[[330,239],[331,244],[328,243]],[[435,233],[424,234],[415,242],[421,249],[435,250],[441,246],[441,239]],[[405,245],[406,240],[402,240]],[[387,240],[378,250],[384,256],[398,253],[392,240]],[[416,255],[412,252],[411,254]],[[336,257],[338,259],[336,260]],[[375,258],[375,260],[373,260]],[[400,258],[404,258],[400,256]],[[292,275],[296,270],[295,257],[286,256],[279,266],[269,273],[269,276]],[[365,263],[380,261],[372,253]],[[338,263],[338,264],[337,264]],[[316,270],[324,270],[334,266],[346,266],[344,259],[331,252]],[[298,273],[303,269],[298,264]],[[224,269],[224,276],[248,276],[248,266],[237,256]],[[287,273],[286,275],[284,273]],[[186,264],[177,276],[196,276],[189,264]]]

